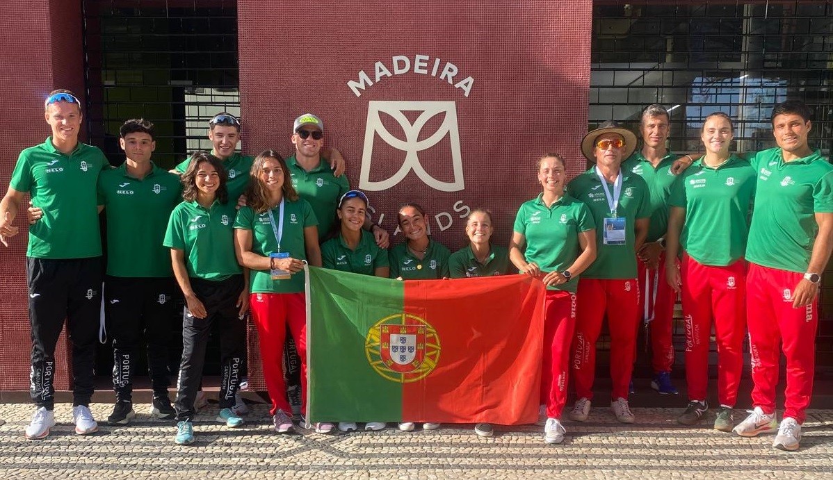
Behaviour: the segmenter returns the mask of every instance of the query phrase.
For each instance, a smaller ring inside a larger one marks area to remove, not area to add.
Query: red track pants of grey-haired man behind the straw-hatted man
[[[666,253],[660,255],[659,267],[648,270],[641,260],[636,261],[641,292],[639,317],[648,323],[651,337],[651,366],[655,374],[671,372],[674,364],[674,344],[671,343],[671,328],[674,321],[676,292],[666,282]]]

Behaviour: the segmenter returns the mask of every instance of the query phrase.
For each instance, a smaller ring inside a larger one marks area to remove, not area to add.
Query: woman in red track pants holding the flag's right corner
[[[570,344],[576,327],[578,275],[596,260],[596,222],[590,209],[564,191],[566,167],[556,153],[538,160],[543,192],[524,202],[515,218],[509,258],[522,274],[546,285],[541,413],[544,441],[564,441],[561,412],[567,399]]]

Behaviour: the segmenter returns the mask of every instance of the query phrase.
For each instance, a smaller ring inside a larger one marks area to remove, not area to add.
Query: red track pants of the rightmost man
[[[792,307],[793,289],[804,275],[750,264],[746,275],[746,311],[752,356],[752,403],[764,413],[776,410],[778,360],[786,356],[784,417],[804,423],[813,393],[818,299]],[[781,346],[779,348],[779,342]]]

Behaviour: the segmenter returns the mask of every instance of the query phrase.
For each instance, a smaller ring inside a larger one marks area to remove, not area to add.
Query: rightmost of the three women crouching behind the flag
[[[509,251],[501,245],[491,244],[491,212],[476,208],[466,217],[466,236],[469,245],[448,257],[448,270],[452,279],[486,277],[509,273]],[[491,437],[491,423],[477,423],[474,433]]]

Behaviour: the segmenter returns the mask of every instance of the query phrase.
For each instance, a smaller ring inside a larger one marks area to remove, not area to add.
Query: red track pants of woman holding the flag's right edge
[[[567,402],[570,343],[576,328],[576,294],[546,290],[544,358],[541,366],[541,404],[547,418],[561,418]]]

